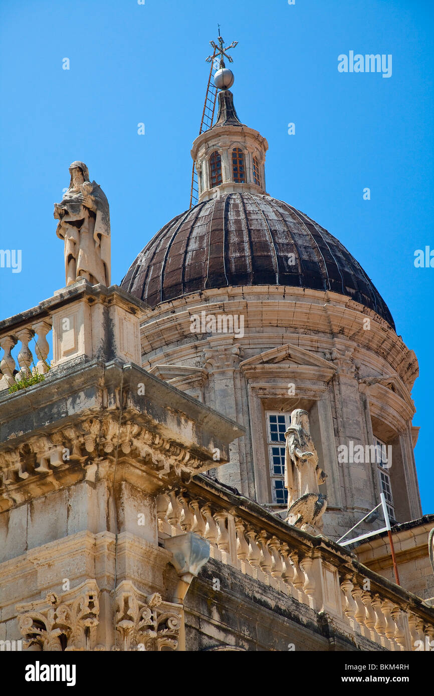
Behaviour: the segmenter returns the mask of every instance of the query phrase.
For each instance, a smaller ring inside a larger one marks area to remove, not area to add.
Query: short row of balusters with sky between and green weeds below
[[[16,382],[32,376],[46,374],[49,342],[47,334],[52,329],[52,319],[48,315],[36,315],[30,321],[22,321],[23,315],[6,319],[1,324],[9,324],[0,329],[0,392]],[[19,344],[17,358],[12,355]]]

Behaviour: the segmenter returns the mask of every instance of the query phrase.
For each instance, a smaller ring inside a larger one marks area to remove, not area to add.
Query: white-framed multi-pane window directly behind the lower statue
[[[285,431],[290,424],[290,413],[267,411],[265,417],[267,419],[272,502],[278,505],[286,505],[288,503],[288,491],[284,485]]]

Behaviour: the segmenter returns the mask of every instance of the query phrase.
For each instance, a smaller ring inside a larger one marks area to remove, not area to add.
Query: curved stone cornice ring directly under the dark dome
[[[157,308],[145,310],[141,325],[142,353],[152,355],[153,351],[166,347],[173,350],[182,347],[184,340],[191,345],[192,313],[200,314],[202,310],[218,313],[223,306],[225,313],[245,316],[245,335],[239,342],[246,349],[252,347],[252,340],[262,338],[270,333],[270,326],[275,326],[274,342],[268,345],[280,342],[281,329],[286,329],[286,333],[307,333],[313,338],[320,336],[321,340],[341,336],[386,361],[408,388],[412,388],[419,374],[414,351],[373,310],[336,292],[301,287],[222,287],[163,302]],[[370,331],[364,331],[366,317],[371,319]]]

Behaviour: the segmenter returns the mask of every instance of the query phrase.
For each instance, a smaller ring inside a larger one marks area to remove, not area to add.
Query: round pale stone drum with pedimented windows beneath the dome
[[[242,315],[244,335],[193,334],[191,317],[203,311]],[[245,426],[245,436],[231,445],[230,463],[218,474],[243,495],[279,509],[268,477],[265,411],[302,407],[309,411],[320,461],[327,464],[325,535],[339,539],[378,504],[375,462],[338,461],[339,445],[373,445],[374,436],[392,444],[396,517],[421,515],[410,395],[417,361],[373,311],[314,290],[203,291],[147,310],[141,350],[147,370]],[[366,524],[360,533],[373,529]]]

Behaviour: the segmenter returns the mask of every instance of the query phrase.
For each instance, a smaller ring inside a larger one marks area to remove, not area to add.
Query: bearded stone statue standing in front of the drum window
[[[327,507],[327,496],[319,489],[319,485],[325,482],[326,474],[318,465],[307,411],[295,409],[291,413],[285,437],[285,487],[288,489],[286,521],[317,534],[323,528],[321,517]]]

